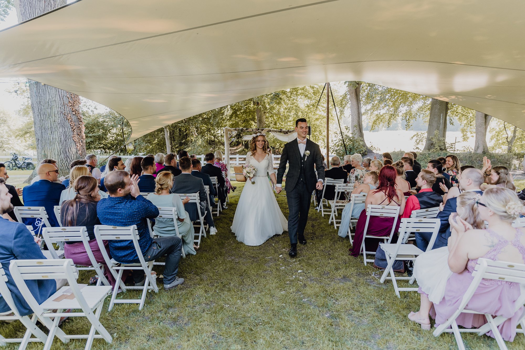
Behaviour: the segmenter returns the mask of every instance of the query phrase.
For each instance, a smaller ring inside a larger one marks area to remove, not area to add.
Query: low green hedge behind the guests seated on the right
[[[394,161],[400,160],[403,157],[404,151],[390,152]],[[454,154],[459,158],[459,162],[462,166],[471,165],[481,169],[483,166],[483,157],[487,156],[492,166],[505,166],[509,169],[516,169],[517,165],[523,161],[523,152],[514,153],[474,153],[474,152],[416,152],[417,161],[421,163],[422,167],[426,167],[426,163],[430,159],[437,159],[437,157],[446,157],[447,155]],[[521,164],[519,165],[521,169]]]

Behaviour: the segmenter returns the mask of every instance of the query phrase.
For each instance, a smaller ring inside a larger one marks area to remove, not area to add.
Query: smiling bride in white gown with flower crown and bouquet
[[[246,165],[248,164],[254,166],[257,171],[253,178],[246,181],[240,194],[232,232],[239,242],[261,245],[271,236],[288,231],[288,221],[277,204],[266,176],[269,173],[271,181],[277,183],[274,162],[268,151],[268,141],[264,133],[257,133],[251,138],[250,151],[246,155]],[[250,180],[255,181],[255,184]]]

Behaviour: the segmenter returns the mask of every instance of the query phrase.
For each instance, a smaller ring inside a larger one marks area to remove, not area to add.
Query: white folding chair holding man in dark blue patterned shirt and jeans
[[[112,271],[115,280],[119,283],[116,283],[113,288],[113,294],[111,295],[111,301],[109,303],[108,311],[111,311],[114,304],[139,304],[139,310],[144,306],[146,300],[146,294],[148,290],[153,290],[155,293],[159,292],[159,287],[155,281],[156,275],[152,275],[152,267],[154,261],[144,261],[144,256],[142,256],[142,251],[139,246],[139,232],[137,230],[137,225],[129,227],[117,227],[110,225],[95,225],[95,237],[99,245],[100,251],[106,260],[106,265],[109,266],[109,269]],[[109,259],[109,256],[104,248],[103,241],[132,241],[135,246],[135,251],[139,256],[138,263],[121,263],[115,259]],[[122,273],[124,270],[143,270],[146,275],[146,280],[144,281],[144,286],[125,286],[122,283]],[[118,271],[118,274],[115,273]],[[122,292],[126,290],[142,290],[142,295],[140,299],[117,299],[117,293],[119,290],[119,285],[122,289]]]

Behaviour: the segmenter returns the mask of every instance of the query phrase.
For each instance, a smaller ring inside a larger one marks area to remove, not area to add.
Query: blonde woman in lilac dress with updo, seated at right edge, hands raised
[[[481,219],[488,222],[488,230],[472,230],[465,220],[451,215],[449,222],[455,232],[452,231],[448,239],[448,266],[453,274],[446,282],[445,296],[439,303],[432,303],[420,288],[419,311],[408,315],[411,321],[421,324],[424,330],[430,330],[429,315],[435,318],[437,326],[457,310],[474,279],[472,271],[479,258],[525,263],[525,231],[512,227],[512,221],[523,211],[523,204],[517,195],[506,188],[491,188],[476,203]],[[498,326],[498,330],[503,339],[512,342],[523,312],[523,306],[515,310],[514,304],[519,296],[520,286],[517,283],[481,280],[467,308],[508,318]],[[456,322],[466,328],[477,328],[487,320],[484,315],[461,313]],[[492,332],[487,335],[492,336]]]

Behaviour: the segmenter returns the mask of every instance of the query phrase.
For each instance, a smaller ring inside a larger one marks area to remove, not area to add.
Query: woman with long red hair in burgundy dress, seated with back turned
[[[386,165],[381,168],[379,172],[379,186],[373,191],[368,192],[366,195],[365,208],[369,204],[376,205],[390,205],[394,207],[401,207],[399,214],[403,214],[405,210],[405,197],[401,190],[395,189],[395,180],[397,177],[397,171],[394,167]],[[372,236],[387,236],[392,232],[392,225],[394,224],[395,218],[387,217],[370,217],[368,223],[368,229],[366,230],[367,235]],[[361,244],[363,242],[363,232],[366,224],[366,210],[361,212],[359,215],[358,223],[355,227],[355,235],[352,249],[350,250],[350,255],[359,256],[361,250]],[[400,220],[397,219],[396,227],[394,232],[397,232],[399,229]],[[395,243],[397,240],[397,235],[394,235],[392,242]],[[367,252],[375,252],[379,246],[380,240],[365,240],[365,249]]]

